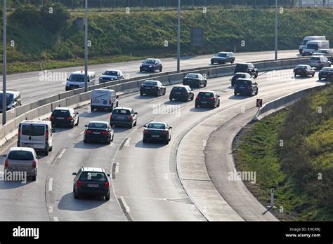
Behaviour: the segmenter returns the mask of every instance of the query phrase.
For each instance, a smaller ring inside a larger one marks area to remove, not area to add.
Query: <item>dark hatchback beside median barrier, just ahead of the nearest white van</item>
[[[50,121],[55,126],[79,126],[79,113],[70,107],[57,107],[53,110]]]

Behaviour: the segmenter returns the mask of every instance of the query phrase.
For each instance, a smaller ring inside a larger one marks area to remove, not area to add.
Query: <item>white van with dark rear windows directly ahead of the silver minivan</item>
[[[51,121],[22,121],[18,126],[18,147],[32,147],[47,156],[52,151],[54,132]]]

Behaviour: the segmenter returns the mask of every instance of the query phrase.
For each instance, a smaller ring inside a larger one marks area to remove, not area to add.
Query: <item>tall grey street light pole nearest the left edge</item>
[[[7,110],[7,101],[6,101],[6,44],[7,44],[7,34],[6,34],[6,0],[4,0],[4,8],[3,8],[3,15],[4,15],[4,28],[3,28],[3,67],[2,67],[2,125],[6,123],[6,110]]]

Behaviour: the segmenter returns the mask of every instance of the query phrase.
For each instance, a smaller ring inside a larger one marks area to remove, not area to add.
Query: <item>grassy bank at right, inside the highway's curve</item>
[[[238,170],[256,172],[256,184],[244,183],[263,205],[275,187],[278,218],[332,221],[333,86],[243,131],[235,161]]]

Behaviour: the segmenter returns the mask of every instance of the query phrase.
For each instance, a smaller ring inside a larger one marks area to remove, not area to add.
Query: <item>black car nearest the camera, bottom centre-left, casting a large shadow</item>
[[[106,201],[110,200],[110,177],[103,168],[82,167],[78,172],[73,172],[74,198],[80,196],[102,196]]]

